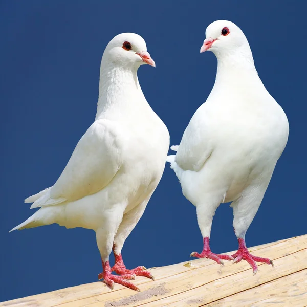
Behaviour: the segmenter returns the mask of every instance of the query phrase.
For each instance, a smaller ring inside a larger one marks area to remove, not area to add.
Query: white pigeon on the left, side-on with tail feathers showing
[[[103,266],[99,279],[111,288],[117,282],[134,290],[139,289],[127,280],[153,276],[145,267],[126,269],[121,250],[162,177],[169,148],[168,130],[139,84],[142,64],[155,67],[141,36],[122,33],[108,43],[94,123],[54,186],[25,200],[41,208],[12,229],[52,223],[93,229]],[[116,261],[110,268],[112,247]]]

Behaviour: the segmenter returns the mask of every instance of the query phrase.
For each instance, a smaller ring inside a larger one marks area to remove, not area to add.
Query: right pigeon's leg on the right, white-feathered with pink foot
[[[273,170],[271,172],[273,173]],[[237,263],[241,260],[246,260],[252,267],[254,275],[258,270],[256,262],[265,262],[266,264],[273,266],[273,262],[270,259],[251,255],[245,244],[246,231],[258,211],[271,176],[272,174],[268,176],[269,180],[262,182],[261,185],[256,182],[255,185],[249,186],[244,192],[244,194],[249,195],[248,198],[239,198],[231,204],[233,208],[233,228],[239,243],[238,251],[232,255],[234,258],[233,262]]]

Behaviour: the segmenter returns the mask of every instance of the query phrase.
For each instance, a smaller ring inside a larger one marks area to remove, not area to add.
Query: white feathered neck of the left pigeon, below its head
[[[101,64],[99,80],[99,98],[97,103],[96,119],[107,111],[120,109],[121,114],[125,114],[129,108],[133,107],[130,100],[136,99],[142,90],[137,76],[138,68],[130,67],[104,67]]]

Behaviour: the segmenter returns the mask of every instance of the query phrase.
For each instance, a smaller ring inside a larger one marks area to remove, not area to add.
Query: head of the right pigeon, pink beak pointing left
[[[214,21],[207,27],[201,53],[207,50],[218,57],[235,53],[237,50],[241,53],[244,53],[244,50],[250,53],[248,41],[242,30],[227,20]]]

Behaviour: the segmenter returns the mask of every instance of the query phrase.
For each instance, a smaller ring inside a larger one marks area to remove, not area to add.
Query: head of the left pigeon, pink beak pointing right
[[[142,64],[156,67],[147,52],[145,40],[135,33],[121,33],[115,36],[108,43],[104,57],[119,67],[138,68]]]

